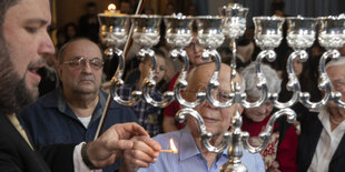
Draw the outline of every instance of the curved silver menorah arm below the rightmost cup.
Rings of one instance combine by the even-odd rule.
[[[312,102],[310,94],[308,92],[303,92],[300,94],[300,102],[308,109],[318,109],[323,105],[325,105],[329,99],[333,99],[337,102],[338,105],[342,105],[341,100],[337,99],[336,94],[332,92],[332,83],[329,81],[328,74],[326,72],[326,60],[332,57],[333,59],[338,59],[339,58],[339,52],[337,50],[327,50],[324,52],[324,54],[319,59],[318,63],[318,72],[319,72],[319,83],[318,83],[318,89],[321,91],[324,90],[324,97],[319,102]],[[333,93],[333,94],[332,94]]]

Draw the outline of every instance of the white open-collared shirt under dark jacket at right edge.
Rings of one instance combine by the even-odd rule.
[[[317,142],[308,172],[328,171],[329,162],[344,135],[345,121],[332,131],[329,115],[326,108],[323,108],[317,115],[324,129]]]

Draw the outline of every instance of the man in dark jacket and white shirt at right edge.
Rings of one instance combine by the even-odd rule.
[[[345,101],[345,57],[326,65],[334,91]],[[304,114],[297,151],[297,171],[345,169],[345,109],[328,102],[318,114]]]

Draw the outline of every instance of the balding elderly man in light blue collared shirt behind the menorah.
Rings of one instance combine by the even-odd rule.
[[[195,99],[197,91],[205,91],[213,72],[215,70],[214,63],[206,63],[197,67],[188,75],[188,88],[186,90],[186,98],[189,101]],[[219,73],[219,89],[215,92],[215,97],[219,101],[224,101],[224,95],[231,91],[230,89],[230,72],[231,69],[221,64]],[[240,82],[240,78],[236,80]],[[236,111],[241,112],[243,108],[239,104],[234,104],[226,109],[219,109],[211,105],[208,101],[199,104],[195,110],[201,115],[207,131],[213,134],[211,144],[217,146],[221,143],[223,133],[228,131],[231,127],[231,117]],[[160,153],[157,162],[149,164],[151,160],[147,156],[147,161],[141,161],[141,166],[148,166],[147,169],[139,169],[139,171],[219,171],[220,166],[228,161],[227,149],[220,154],[209,152],[204,148],[200,140],[200,131],[198,130],[198,123],[196,119],[188,115],[187,127],[183,130],[160,134],[156,138],[162,149],[170,149],[169,139],[172,138],[178,149],[178,153]],[[144,149],[146,148],[146,149]],[[145,150],[145,151],[139,151]],[[150,146],[147,146],[142,142],[136,141],[132,151],[125,151],[125,164],[122,165],[127,171],[135,171],[136,166],[132,163],[132,159],[136,156],[142,156],[146,153],[150,153]],[[247,151],[243,151],[243,163],[247,166],[248,171],[265,171],[263,159],[259,154],[250,154]]]

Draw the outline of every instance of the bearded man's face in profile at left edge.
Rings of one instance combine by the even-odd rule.
[[[40,75],[37,70],[43,67],[42,57],[55,52],[53,44],[47,32],[50,24],[48,0],[21,0],[11,7],[3,21],[3,41],[11,62],[11,82],[6,91],[14,92],[16,104],[21,107],[33,101],[38,95]],[[1,57],[3,58],[3,57]],[[8,60],[8,59],[7,59]],[[4,70],[3,68],[1,70]],[[27,100],[21,100],[27,99]],[[11,100],[9,100],[11,101]],[[21,101],[19,103],[19,101]]]

